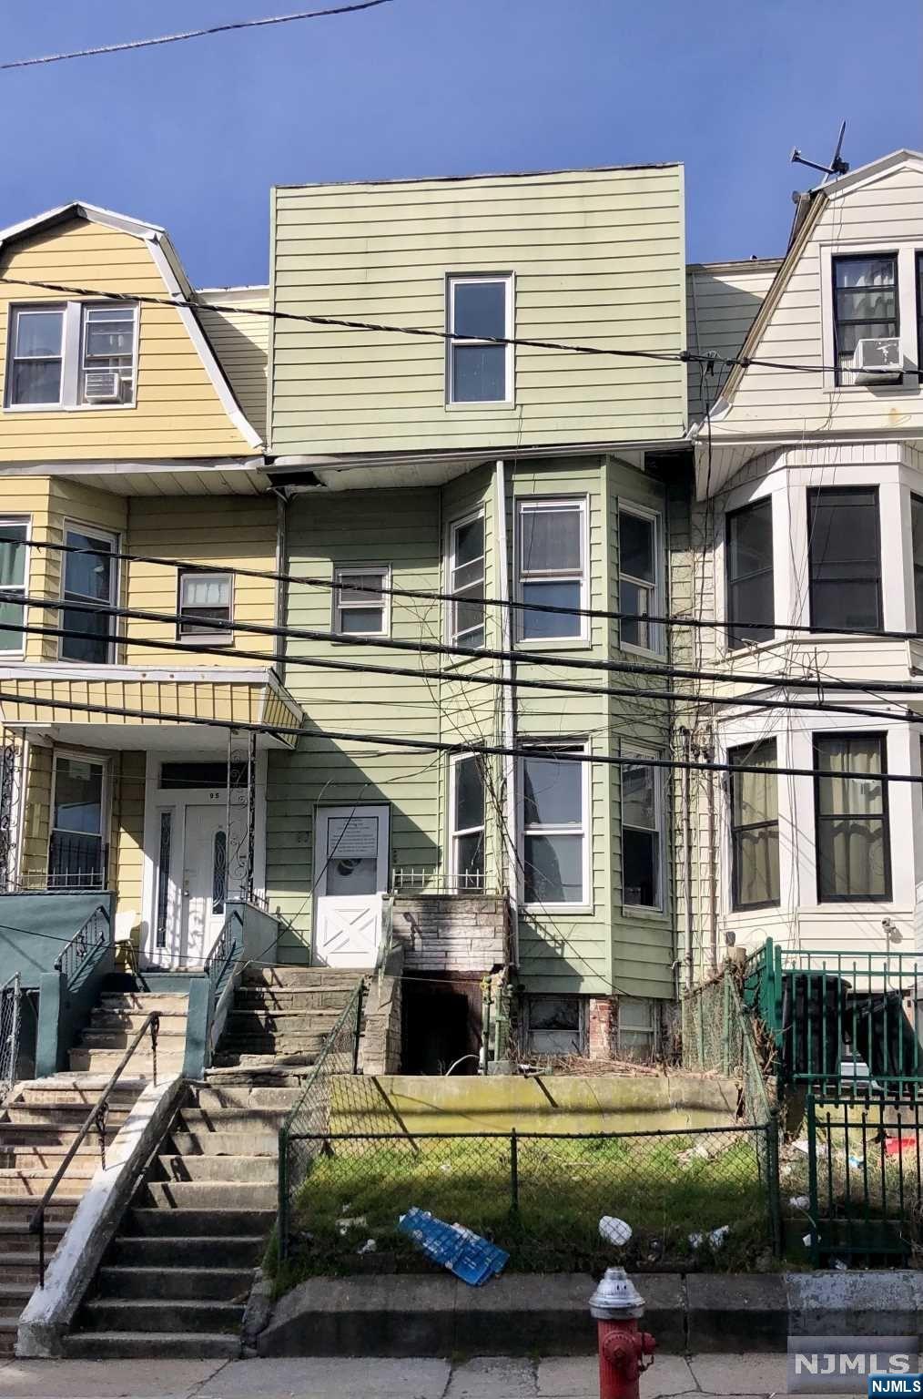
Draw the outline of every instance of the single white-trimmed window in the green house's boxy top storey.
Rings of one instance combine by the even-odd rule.
[[[446,400],[512,403],[513,347],[492,344],[513,334],[512,276],[452,276],[446,297]]]

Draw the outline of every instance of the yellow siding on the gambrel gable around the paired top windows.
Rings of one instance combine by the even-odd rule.
[[[0,255],[0,274],[103,292],[168,294],[143,239],[81,218],[11,243]],[[0,283],[0,358],[4,365],[10,304],[60,299],[50,291]],[[7,410],[0,414],[0,460],[4,462],[117,462],[252,453],[228,418],[172,306],[140,308],[134,407]]]

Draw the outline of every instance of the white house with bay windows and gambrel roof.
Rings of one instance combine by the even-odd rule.
[[[923,154],[801,196],[766,290],[768,270],[691,270],[699,347],[727,354],[736,308],[754,362],[691,395],[695,504],[673,609],[720,625],[678,635],[674,662],[727,677],[708,694],[804,708],[701,702],[678,722],[692,755],[815,775],[691,779],[677,886],[696,977],[730,942],[916,950],[923,936],[922,789],[880,778],[922,771],[923,642],[899,634],[923,632]]]

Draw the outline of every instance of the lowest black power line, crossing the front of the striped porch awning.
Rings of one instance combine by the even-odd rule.
[[[471,743],[463,739],[457,743],[449,743],[443,739],[397,737],[390,733],[351,733],[348,730],[317,729],[305,725],[271,725],[249,719],[213,719],[201,715],[171,713],[165,709],[140,709],[127,705],[98,705],[81,700],[49,700],[38,695],[21,695],[10,693],[8,690],[0,690],[0,704],[4,702],[28,705],[34,709],[67,709],[77,713],[95,713],[117,719],[140,719],[141,722],[151,723],[193,725],[206,729],[220,729],[222,732],[231,730],[232,733],[266,733],[274,739],[305,737],[323,739],[329,743],[364,743],[380,746],[383,748],[404,748],[413,753],[457,753],[470,755],[480,754],[482,757],[544,758],[552,762],[579,762],[590,767],[596,764],[600,767],[614,768],[688,768],[694,772],[750,772],[764,778],[766,774],[775,774],[776,776],[793,778],[829,778],[831,781],[854,782],[902,782],[912,786],[923,785],[923,776],[917,776],[913,772],[859,772],[853,768],[842,768],[833,772],[825,768],[766,768],[750,767],[744,762],[656,758],[649,757],[647,754],[636,757],[608,753],[586,753],[582,748],[575,747],[575,744],[580,741],[579,739],[566,737],[551,741],[537,737],[534,743],[523,744]],[[49,722],[55,723],[53,719]],[[24,723],[25,720],[20,719],[14,722],[14,726],[22,727]]]

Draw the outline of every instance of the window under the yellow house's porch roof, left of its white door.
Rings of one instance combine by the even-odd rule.
[[[48,852],[49,888],[105,888],[105,768],[57,754]]]

